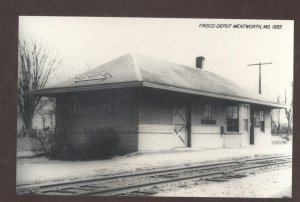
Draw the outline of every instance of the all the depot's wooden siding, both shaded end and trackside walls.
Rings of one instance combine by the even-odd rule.
[[[115,100],[117,114],[107,114],[107,98]],[[77,110],[72,111],[72,100]],[[163,150],[182,147],[174,134],[173,107],[175,104],[191,106],[191,146],[202,148],[236,147],[249,144],[249,133],[243,130],[243,104],[239,104],[239,133],[226,132],[226,106],[228,103],[203,97],[189,97],[152,89],[126,89],[57,96],[56,131],[60,141],[73,147],[83,147],[87,141],[86,129],[113,127],[121,141],[119,150],[124,153],[137,150]],[[202,124],[204,105],[212,104],[216,124]],[[252,106],[251,106],[252,107]],[[250,110],[250,107],[249,107]],[[255,145],[270,143],[270,109],[265,111],[265,132],[255,128]],[[250,115],[250,111],[249,111]],[[248,119],[250,127],[250,117]],[[250,131],[250,128],[249,130]]]

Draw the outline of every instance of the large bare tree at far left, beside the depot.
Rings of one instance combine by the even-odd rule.
[[[44,88],[50,74],[60,65],[56,57],[50,56],[50,51],[36,41],[27,43],[19,40],[19,80],[18,107],[25,127],[25,136],[29,136],[32,119],[41,109],[40,96],[32,96],[30,90]]]

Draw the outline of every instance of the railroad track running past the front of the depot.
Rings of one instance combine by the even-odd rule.
[[[152,195],[159,186],[189,180],[227,181],[247,176],[255,170],[292,163],[291,155],[269,156],[223,163],[203,164],[182,168],[137,172],[111,177],[46,184],[19,186],[17,194],[44,195]]]

